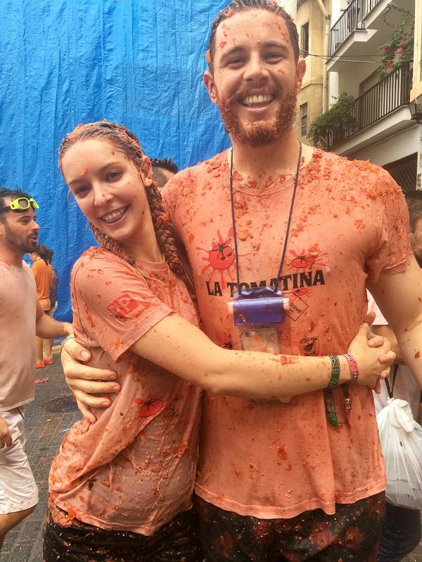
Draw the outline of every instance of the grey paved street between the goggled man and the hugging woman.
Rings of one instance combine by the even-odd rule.
[[[25,521],[6,535],[0,562],[42,561],[42,528],[51,461],[66,431],[80,418],[65,384],[57,353],[52,365],[37,370],[37,377],[49,380],[35,385],[35,400],[25,407],[25,427],[26,450],[39,488],[39,504]],[[404,562],[422,562],[422,544],[404,558]]]

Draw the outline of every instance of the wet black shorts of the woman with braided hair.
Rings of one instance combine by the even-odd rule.
[[[78,521],[63,527],[49,514],[44,562],[202,562],[193,510],[177,515],[150,537]]]

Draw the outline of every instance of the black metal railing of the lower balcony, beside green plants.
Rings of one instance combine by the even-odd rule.
[[[343,143],[398,107],[409,103],[411,80],[412,70],[407,63],[356,98],[352,110],[339,119],[337,126],[328,133],[328,148]]]

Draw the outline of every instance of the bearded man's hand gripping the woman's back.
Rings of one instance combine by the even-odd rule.
[[[72,338],[65,342],[61,351],[61,362],[66,382],[75,395],[82,415],[94,422],[96,417],[91,412],[91,407],[104,408],[111,405],[108,396],[94,395],[120,392],[120,384],[113,382],[117,379],[114,371],[84,365],[83,361],[89,359],[91,359],[91,353],[79,345],[75,339]]]

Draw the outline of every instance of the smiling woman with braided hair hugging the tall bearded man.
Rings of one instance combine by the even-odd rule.
[[[123,126],[78,126],[61,145],[60,167],[101,244],[72,271],[75,336],[91,353],[85,368],[96,379],[113,370],[121,391],[106,410],[108,397],[96,397],[53,461],[44,559],[130,562],[160,551],[160,559],[202,562],[191,511],[199,386],[295,396],[328,385],[331,359],[229,351],[198,329],[150,161]],[[350,351],[359,384],[374,386],[388,344],[369,347],[362,326]],[[350,381],[346,358],[338,362],[339,380]]]

